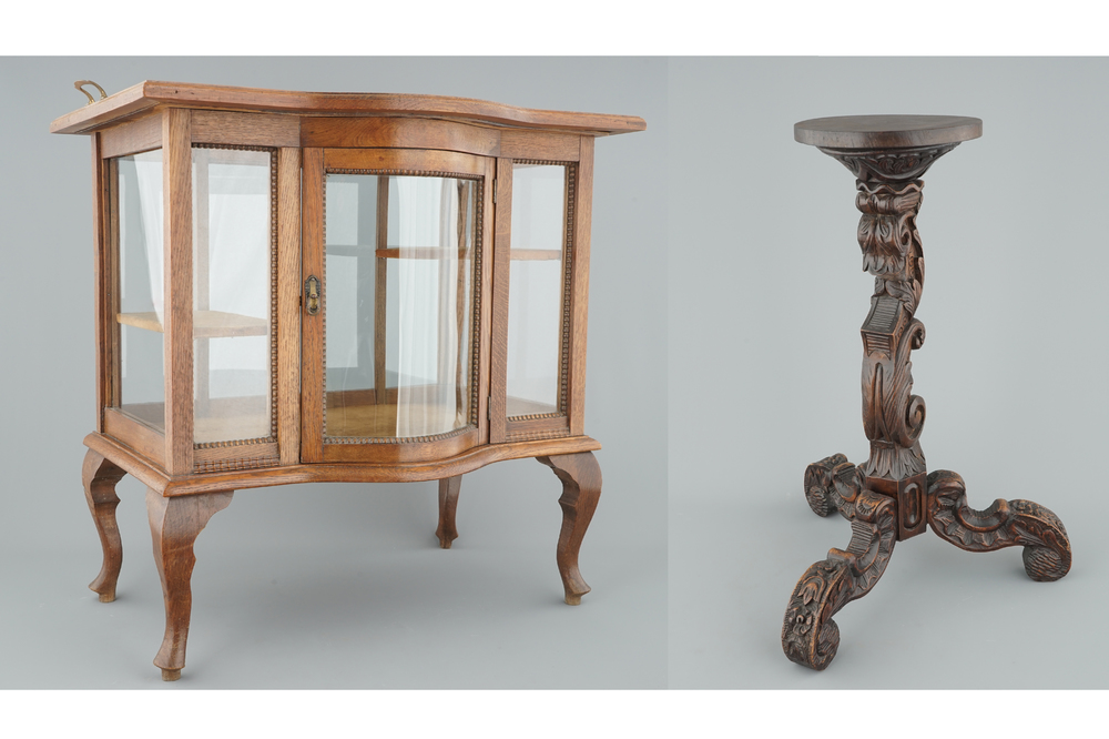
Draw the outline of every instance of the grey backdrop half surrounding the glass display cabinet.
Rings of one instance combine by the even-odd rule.
[[[561,603],[561,484],[531,459],[462,478],[446,551],[434,483],[241,490],[196,543],[180,687],[665,687],[665,61],[104,58],[0,60],[4,275],[22,283],[4,291],[0,324],[0,688],[170,687],[151,664],[162,595],[130,477],[119,598],[87,589],[100,568],[80,485],[95,417],[90,150],[47,132],[84,104],[78,79],[109,92],[152,79],[427,93],[648,121],[596,152],[586,433],[604,447],[604,486],[580,557],[593,591]]]

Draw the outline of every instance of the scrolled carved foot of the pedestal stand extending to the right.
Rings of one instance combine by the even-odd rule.
[[[1070,539],[1054,513],[1031,500],[994,500],[985,510],[967,505],[966,484],[946,469],[928,475],[928,524],[939,538],[967,551],[1022,546],[1025,573],[1038,583],[1070,571]]]

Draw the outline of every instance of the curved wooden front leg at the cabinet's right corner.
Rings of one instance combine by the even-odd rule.
[[[558,537],[557,560],[566,603],[577,606],[581,604],[581,596],[589,593],[589,586],[578,570],[578,550],[601,497],[601,467],[592,452],[537,459],[553,469],[562,480],[562,497],[558,500],[562,507],[562,530]]]

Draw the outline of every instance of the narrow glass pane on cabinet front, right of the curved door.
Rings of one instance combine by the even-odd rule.
[[[512,165],[509,253],[508,416],[560,413],[567,166]]]

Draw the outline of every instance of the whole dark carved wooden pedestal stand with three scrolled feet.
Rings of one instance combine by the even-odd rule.
[[[924,401],[912,394],[909,353],[924,344],[914,314],[924,287],[924,254],[916,230],[919,178],[963,141],[981,135],[981,121],[950,115],[858,115],[802,121],[801,143],[817,146],[857,178],[855,205],[863,267],[875,276],[863,323],[863,428],[871,456],[855,466],[834,454],[805,470],[805,497],[818,516],[838,512],[851,522],[846,550],[831,549],[801,577],[782,627],[786,656],[822,670],[835,657],[840,628],[832,620],[866,595],[885,571],[894,543],[930,525],[968,551],[1024,547],[1034,580],[1057,580],[1070,569],[1062,522],[1029,500],[967,505],[963,478],[927,472],[919,437]]]

